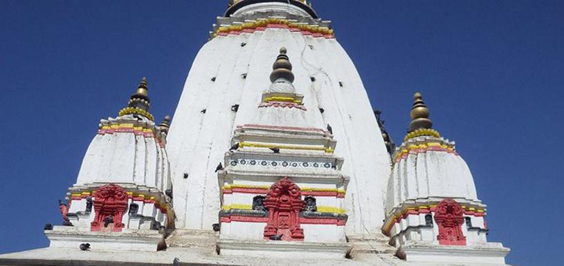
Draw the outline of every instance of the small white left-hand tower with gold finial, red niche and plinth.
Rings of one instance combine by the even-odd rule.
[[[153,122],[147,91],[143,78],[118,117],[100,120],[77,181],[60,203],[64,226],[45,231],[51,247],[154,251],[174,229],[169,118]]]

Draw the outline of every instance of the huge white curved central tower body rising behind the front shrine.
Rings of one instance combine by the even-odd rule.
[[[330,22],[302,1],[236,2],[217,19],[212,39],[194,59],[167,137],[176,226],[210,230],[217,222],[215,167],[233,131],[255,117],[272,59],[284,46],[293,61],[293,85],[309,110],[306,119],[321,129],[331,125],[339,142],[335,154],[347,162],[347,234],[379,231],[390,155],[361,78]]]

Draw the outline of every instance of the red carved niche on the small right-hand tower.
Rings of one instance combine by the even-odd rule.
[[[464,210],[458,202],[451,199],[442,200],[435,208],[435,221],[439,225],[440,245],[466,245],[466,236],[462,234]]]

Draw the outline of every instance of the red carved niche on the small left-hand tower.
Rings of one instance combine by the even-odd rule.
[[[94,220],[91,231],[121,231],[123,213],[127,209],[127,191],[117,184],[106,184],[94,193]]]

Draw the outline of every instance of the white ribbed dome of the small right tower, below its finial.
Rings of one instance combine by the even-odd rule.
[[[472,173],[443,138],[421,136],[404,142],[395,153],[386,211],[406,200],[461,198],[479,202]]]

